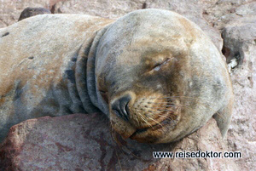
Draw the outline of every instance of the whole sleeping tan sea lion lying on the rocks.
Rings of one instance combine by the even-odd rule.
[[[224,135],[233,91],[218,49],[180,14],[119,20],[37,15],[0,31],[0,132],[32,117],[102,111],[124,139],[180,140],[212,116]]]

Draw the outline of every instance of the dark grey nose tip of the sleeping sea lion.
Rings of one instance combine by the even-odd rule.
[[[111,105],[112,111],[120,118],[125,121],[129,120],[129,101],[131,100],[130,95],[125,95],[124,97],[115,100]]]

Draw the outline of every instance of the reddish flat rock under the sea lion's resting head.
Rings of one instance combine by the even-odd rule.
[[[165,145],[116,143],[101,113],[41,117],[15,125],[0,147],[5,170],[239,170],[233,159],[154,159],[153,151],[227,151],[214,119]],[[119,145],[118,145],[119,144]]]

